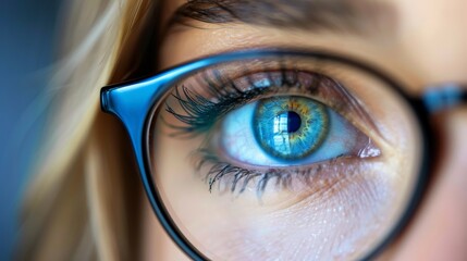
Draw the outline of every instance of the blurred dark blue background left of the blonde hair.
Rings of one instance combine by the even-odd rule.
[[[17,211],[47,117],[45,87],[63,0],[0,2],[0,260],[11,260]]]

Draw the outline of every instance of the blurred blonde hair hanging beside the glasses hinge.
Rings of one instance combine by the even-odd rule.
[[[126,260],[137,253],[140,185],[124,129],[99,89],[128,77],[155,1],[76,0],[50,80],[53,116],[28,187],[16,258]],[[128,215],[127,213],[132,213]]]

